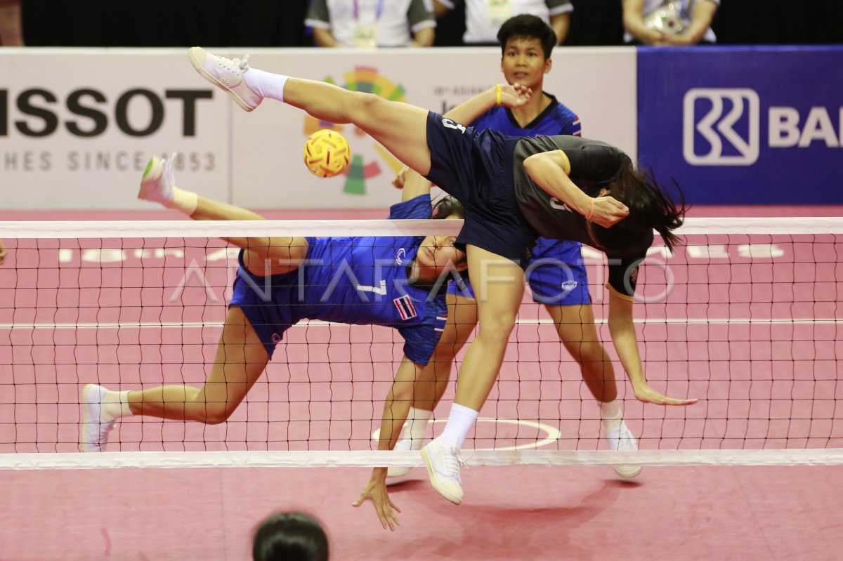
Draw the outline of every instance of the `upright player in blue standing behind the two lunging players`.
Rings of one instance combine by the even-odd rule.
[[[544,77],[550,72],[550,53],[556,34],[550,25],[530,14],[507,19],[497,33],[501,44],[501,69],[507,83],[520,83],[534,95],[527,104],[510,109],[495,106],[471,126],[476,131],[493,129],[510,136],[581,136],[576,114],[544,91]],[[415,174],[415,172],[411,172]],[[401,176],[398,181],[400,183]],[[397,184],[396,184],[397,186]],[[615,370],[594,326],[594,312],[588,295],[588,275],[583,264],[582,244],[539,238],[529,260],[527,281],[535,302],[545,305],[556,325],[561,342],[580,366],[583,380],[600,403],[604,436],[613,450],[636,450],[635,436],[623,421],[615,384]],[[470,281],[448,285],[448,323],[436,355],[425,368],[412,393],[400,398],[414,400],[404,438],[395,450],[418,450],[427,431],[432,411],[442,398],[450,377],[454,356],[465,345],[477,323],[477,307]],[[410,468],[389,468],[389,477],[400,477]],[[636,466],[616,466],[622,477],[641,472]]]

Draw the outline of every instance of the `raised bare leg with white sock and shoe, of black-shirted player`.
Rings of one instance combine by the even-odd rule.
[[[419,174],[430,171],[427,110],[330,83],[263,72],[251,68],[247,58],[228,59],[201,47],[191,48],[188,57],[201,77],[227,91],[244,110],[253,110],[270,98],[305,110],[319,120],[353,123]]]

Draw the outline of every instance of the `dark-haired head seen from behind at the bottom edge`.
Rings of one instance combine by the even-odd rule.
[[[314,517],[282,512],[261,522],[255,532],[255,561],[327,561],[328,537]]]

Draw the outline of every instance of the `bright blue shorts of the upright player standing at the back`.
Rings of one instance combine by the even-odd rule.
[[[582,244],[539,238],[527,267],[527,282],[534,302],[553,306],[590,304],[588,273],[583,263]],[[452,282],[448,293],[474,298],[470,280]]]

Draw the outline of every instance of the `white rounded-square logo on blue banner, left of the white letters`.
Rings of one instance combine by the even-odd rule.
[[[685,93],[684,105],[682,152],[688,163],[698,166],[749,166],[758,160],[760,99],[753,89],[692,88]],[[705,106],[708,107],[707,113],[701,111],[697,115],[697,109]],[[745,131],[738,132],[735,125],[742,121],[744,112],[749,123]],[[699,133],[708,144],[707,152],[697,152],[695,133]],[[728,142],[731,149],[725,147],[724,142]]]

